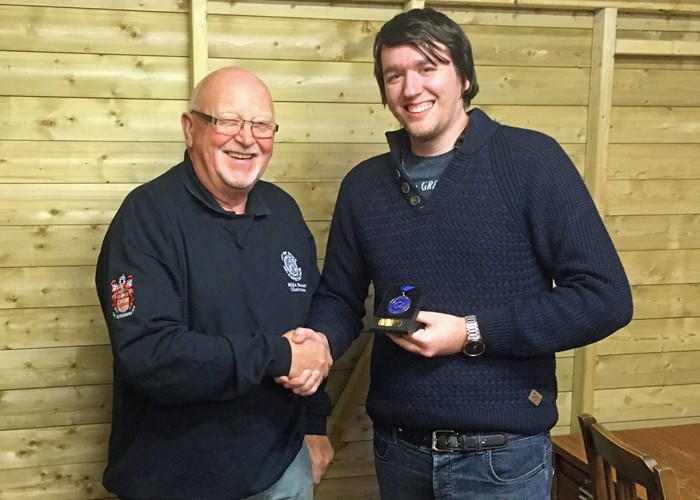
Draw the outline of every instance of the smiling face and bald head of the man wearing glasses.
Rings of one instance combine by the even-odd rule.
[[[223,68],[208,75],[197,89],[193,109],[217,118],[275,120],[265,84],[241,68]],[[224,134],[191,113],[182,115],[185,142],[197,177],[227,210],[243,203],[262,177],[272,156],[274,139],[257,139],[249,123],[235,135]]]

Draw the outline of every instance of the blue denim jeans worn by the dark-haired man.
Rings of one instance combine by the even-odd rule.
[[[375,426],[374,466],[382,500],[550,500],[549,432],[503,448],[434,452]]]

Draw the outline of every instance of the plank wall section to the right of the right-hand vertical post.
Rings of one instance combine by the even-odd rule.
[[[617,25],[618,45],[700,47],[698,16]],[[606,224],[635,312],[598,345],[594,414],[610,428],[700,422],[700,58],[618,55],[613,80]]]

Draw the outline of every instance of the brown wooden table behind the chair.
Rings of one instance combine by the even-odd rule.
[[[700,500],[700,424],[614,431],[621,440],[676,474],[683,500]],[[593,498],[580,434],[552,437],[554,500]]]

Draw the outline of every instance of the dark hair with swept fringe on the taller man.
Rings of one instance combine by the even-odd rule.
[[[448,64],[450,61],[444,56],[443,47],[438,44],[447,47],[462,85],[469,80],[469,88],[462,93],[464,106],[469,106],[471,100],[479,92],[472,46],[467,35],[456,22],[430,7],[412,9],[397,15],[382,26],[374,39],[374,77],[377,79],[379,91],[382,93],[382,104],[386,105],[382,49],[410,45],[431,62]]]

